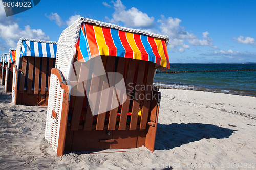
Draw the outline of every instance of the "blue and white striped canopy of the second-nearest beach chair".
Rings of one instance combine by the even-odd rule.
[[[34,56],[34,57],[56,58],[56,55],[57,55],[57,44],[25,41],[25,40],[23,40],[22,42],[22,50],[21,50],[20,57]]]

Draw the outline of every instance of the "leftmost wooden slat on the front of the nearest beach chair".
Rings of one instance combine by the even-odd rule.
[[[88,73],[89,73],[89,69],[86,66],[84,66],[83,63],[81,63],[79,77],[78,77],[78,82],[81,82],[81,83],[77,83],[76,93],[84,94],[84,91],[85,91],[84,82],[82,82],[81,80],[87,80]],[[76,96],[75,103],[74,103],[73,116],[72,116],[72,120],[71,120],[71,130],[72,131],[78,130],[78,128],[79,128],[83,100],[84,100],[84,96]]]

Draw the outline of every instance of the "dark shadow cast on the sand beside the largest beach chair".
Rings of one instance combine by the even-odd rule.
[[[199,141],[201,139],[223,139],[233,133],[232,129],[221,128],[211,124],[157,124],[155,150],[169,150],[182,144]]]

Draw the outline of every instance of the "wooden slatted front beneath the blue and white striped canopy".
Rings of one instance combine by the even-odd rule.
[[[55,67],[55,58],[22,57],[18,77],[19,93],[46,94],[50,85],[51,69]]]

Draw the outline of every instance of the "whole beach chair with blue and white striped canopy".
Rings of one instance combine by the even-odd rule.
[[[55,67],[57,42],[20,38],[13,76],[12,103],[47,106],[50,72]]]

